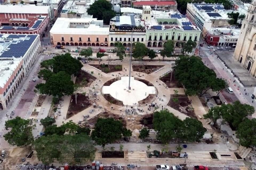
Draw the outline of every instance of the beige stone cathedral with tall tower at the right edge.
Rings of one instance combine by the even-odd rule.
[[[234,58],[256,77],[256,0],[251,3],[243,20]]]

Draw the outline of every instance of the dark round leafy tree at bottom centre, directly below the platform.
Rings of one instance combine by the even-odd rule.
[[[126,133],[129,132],[123,127],[121,121],[113,118],[98,118],[91,137],[98,145],[105,147],[107,143],[113,143],[121,139],[122,135],[129,137]]]

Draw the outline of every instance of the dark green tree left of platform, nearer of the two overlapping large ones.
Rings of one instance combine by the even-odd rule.
[[[35,88],[46,95],[53,95],[55,97],[62,97],[64,95],[72,95],[74,92],[74,83],[70,80],[70,75],[64,71],[51,75],[46,83],[40,83]]]

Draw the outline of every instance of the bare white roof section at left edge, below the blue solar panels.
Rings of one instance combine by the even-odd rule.
[[[0,61],[0,87],[3,88],[6,82],[10,79],[11,75],[18,67],[19,63],[21,63],[21,58],[13,58],[9,60],[1,60]]]

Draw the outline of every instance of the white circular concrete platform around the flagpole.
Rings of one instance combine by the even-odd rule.
[[[138,101],[145,99],[149,94],[156,94],[154,86],[147,86],[145,83],[135,80],[134,77],[131,77],[130,87],[129,86],[129,77],[121,77],[121,80],[118,80],[110,86],[103,86],[102,93],[110,94],[117,100],[123,102],[124,105],[138,105]]]

